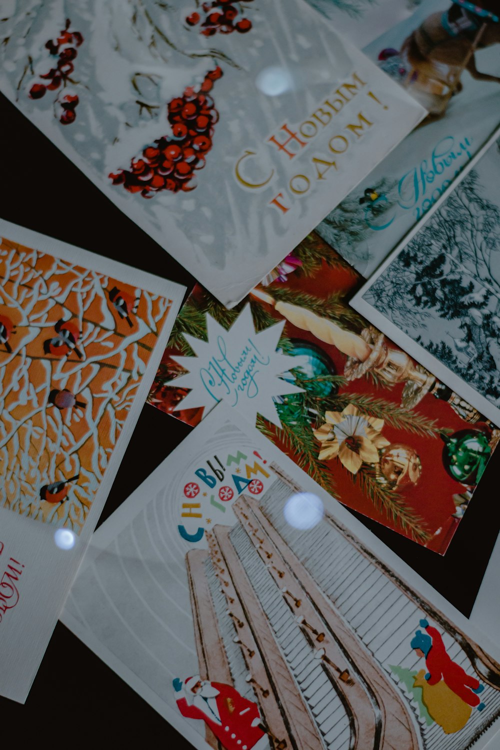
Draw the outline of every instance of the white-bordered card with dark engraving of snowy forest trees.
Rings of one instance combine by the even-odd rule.
[[[500,131],[352,305],[500,422]]]

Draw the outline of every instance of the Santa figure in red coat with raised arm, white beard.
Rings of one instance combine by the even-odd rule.
[[[262,729],[259,707],[238,693],[232,685],[209,682],[197,674],[184,682],[173,681],[178,709],[186,718],[200,718],[208,724],[226,750],[269,750],[269,738]]]

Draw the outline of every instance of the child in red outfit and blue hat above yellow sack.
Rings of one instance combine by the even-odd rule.
[[[484,685],[481,685],[475,677],[469,676],[460,664],[451,660],[441,634],[429,625],[427,619],[421,619],[420,624],[422,628],[425,628],[427,635],[420,630],[416,631],[411,645],[418,656],[425,658],[428,670],[425,675],[427,682],[430,685],[437,685],[443,680],[464,703],[469,706],[478,706],[478,711],[482,711],[485,706],[481,703],[478,693],[484,690]]]

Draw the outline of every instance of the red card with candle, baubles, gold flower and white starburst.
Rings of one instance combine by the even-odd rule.
[[[496,425],[349,308],[359,277],[319,236],[265,281],[232,311],[195,287],[148,401],[190,425],[225,401],[340,502],[445,553]]]

